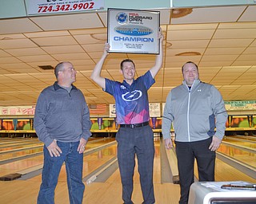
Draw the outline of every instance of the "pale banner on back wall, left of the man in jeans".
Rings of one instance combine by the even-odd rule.
[[[0,106],[0,115],[34,115],[34,106]]]

